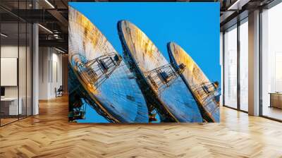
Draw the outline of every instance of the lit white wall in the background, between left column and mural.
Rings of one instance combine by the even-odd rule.
[[[39,99],[56,97],[62,85],[62,55],[51,47],[39,47]]]

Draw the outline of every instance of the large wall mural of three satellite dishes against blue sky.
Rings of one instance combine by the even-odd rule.
[[[69,5],[69,121],[219,122],[218,3]]]

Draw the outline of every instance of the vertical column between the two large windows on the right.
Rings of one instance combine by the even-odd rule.
[[[249,114],[259,116],[259,11],[249,13]]]

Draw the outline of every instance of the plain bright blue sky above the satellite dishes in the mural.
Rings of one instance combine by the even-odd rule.
[[[118,20],[137,25],[168,59],[167,42],[176,42],[202,68],[209,80],[221,80],[219,3],[70,2],[101,30],[121,54]]]

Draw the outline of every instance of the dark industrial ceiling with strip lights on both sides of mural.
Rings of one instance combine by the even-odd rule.
[[[71,1],[71,0],[70,0]],[[73,0],[82,1],[82,0]],[[84,0],[85,1],[85,0]],[[91,0],[86,0],[91,1]],[[106,1],[106,0],[102,0]],[[126,0],[109,0],[126,1]],[[138,0],[137,0],[138,1]],[[140,0],[141,1],[141,0]],[[144,1],[144,0],[142,0]],[[152,1],[152,0],[145,0]],[[155,0],[158,1],[158,0]],[[163,0],[164,1],[164,0]],[[173,0],[165,0],[173,1]],[[176,0],[185,1],[185,0]],[[190,0],[195,2],[197,0]],[[204,2],[218,1],[221,4],[220,25],[224,30],[229,25],[237,23],[238,15],[247,16],[248,11],[269,4],[273,0],[202,0]],[[16,24],[20,22],[39,23],[39,46],[52,46],[68,49],[68,0],[1,0],[0,18],[3,31],[16,37]],[[199,2],[199,0],[197,1]],[[36,9],[35,9],[36,8]],[[243,16],[241,16],[243,18]],[[16,27],[16,28],[15,28]],[[21,36],[21,35],[20,35]],[[16,37],[17,38],[17,37]]]

